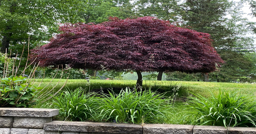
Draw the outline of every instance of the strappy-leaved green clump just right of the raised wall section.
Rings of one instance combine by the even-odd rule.
[[[94,93],[85,93],[78,88],[74,91],[63,91],[58,96],[53,96],[53,106],[59,109],[61,120],[86,121],[95,114],[98,108],[97,97]]]

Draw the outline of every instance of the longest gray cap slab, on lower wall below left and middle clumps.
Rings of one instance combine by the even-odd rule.
[[[44,130],[142,134],[142,126],[138,124],[83,121],[52,121],[44,125]]]

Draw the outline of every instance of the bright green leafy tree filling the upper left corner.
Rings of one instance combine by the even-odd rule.
[[[38,45],[57,32],[59,23],[82,21],[78,13],[85,11],[84,2],[86,0],[1,0],[1,52],[8,51],[9,46],[23,47],[22,42],[28,37],[31,44],[36,41],[34,45]]]

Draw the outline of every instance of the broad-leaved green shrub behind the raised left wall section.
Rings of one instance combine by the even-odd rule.
[[[26,77],[0,79],[0,107],[30,107],[36,104],[36,93],[40,89],[30,84]]]

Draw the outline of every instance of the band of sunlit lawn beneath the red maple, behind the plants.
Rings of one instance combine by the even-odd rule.
[[[39,84],[40,79],[36,84]],[[40,87],[45,87],[51,81],[51,79],[44,79]],[[54,87],[58,83],[59,79],[54,79],[50,86]],[[60,83],[56,86],[54,91],[58,91],[60,87],[66,82],[65,79],[61,79]],[[84,89],[100,89],[102,88],[133,88],[136,84],[136,80],[90,80],[90,84],[83,79],[69,79],[64,89],[74,90],[82,87]],[[202,96],[210,96],[210,92],[218,94],[219,89],[224,91],[241,91],[242,94],[256,94],[256,84],[249,83],[221,83],[221,82],[195,82],[195,81],[143,81],[143,88],[162,89],[163,91],[171,91],[175,85],[182,86],[180,90],[186,90],[194,94],[200,94]],[[185,91],[181,91],[181,95]]]

